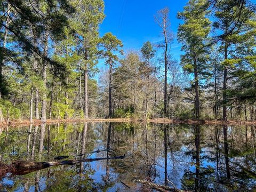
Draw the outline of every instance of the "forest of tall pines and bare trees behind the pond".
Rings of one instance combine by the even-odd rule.
[[[148,18],[162,41],[129,51],[111,32],[99,35],[104,9],[103,0],[1,1],[1,122],[256,120],[255,2],[189,0],[178,13],[165,7]],[[177,34],[170,14],[180,20]]]

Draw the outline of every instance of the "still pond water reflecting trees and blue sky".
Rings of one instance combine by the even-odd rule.
[[[256,190],[256,127],[95,122],[0,128],[0,191]],[[103,158],[8,173],[17,160]],[[64,158],[64,157],[63,157]]]

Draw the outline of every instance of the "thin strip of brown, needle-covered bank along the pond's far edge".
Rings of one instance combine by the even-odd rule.
[[[47,119],[46,124],[57,124],[57,123],[83,123],[83,122],[132,122],[132,123],[159,123],[159,124],[196,124],[196,125],[255,125],[256,121],[223,121],[223,120],[211,120],[211,119],[168,119],[168,118],[154,118],[154,119],[140,119],[140,118],[91,118],[91,119]],[[15,120],[0,123],[0,126],[28,126],[41,125],[43,122],[40,119],[34,119],[33,123],[29,120]]]

